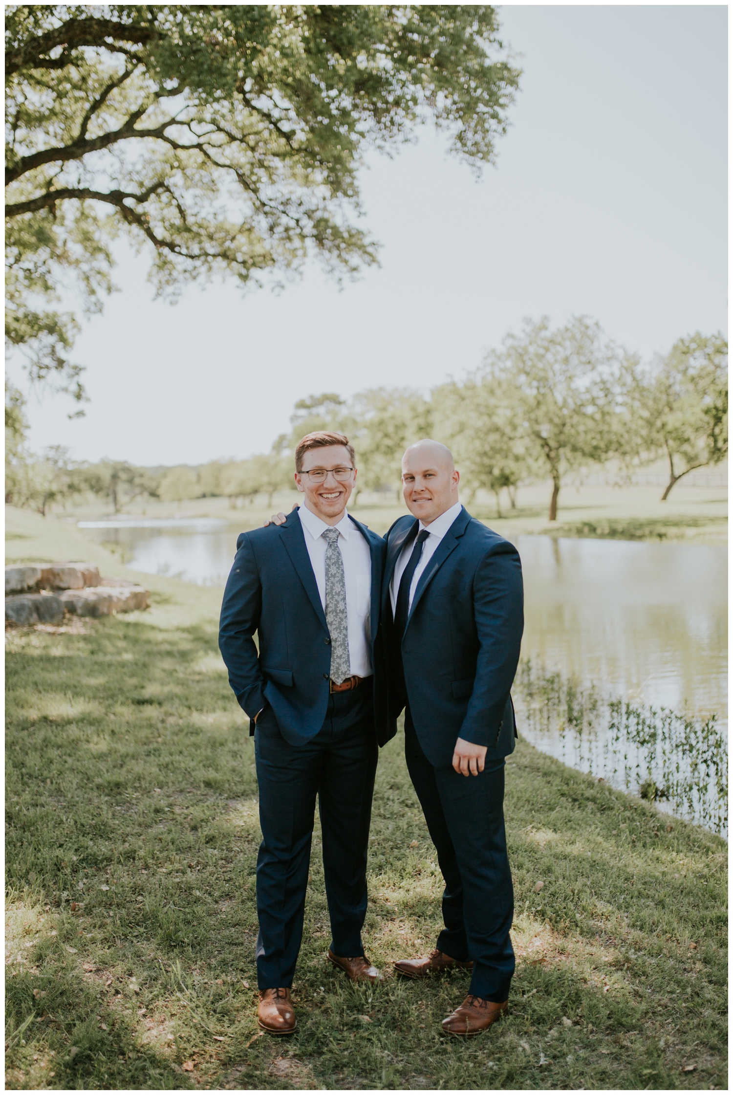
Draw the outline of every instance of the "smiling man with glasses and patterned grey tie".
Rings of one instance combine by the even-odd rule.
[[[240,535],[221,609],[219,646],[255,736],[258,1023],[271,1034],[296,1025],[290,989],[316,795],[328,958],[352,981],[382,978],[361,929],[377,744],[396,723],[379,627],[386,544],[347,512],[356,479],[347,437],[306,435],[295,449],[303,506],[280,526]]]

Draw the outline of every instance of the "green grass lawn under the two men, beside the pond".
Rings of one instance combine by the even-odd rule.
[[[440,924],[399,735],[377,771],[365,925],[387,980],[356,988],[325,961],[316,830],[299,1029],[260,1036],[254,750],[217,649],[220,593],[147,580],[148,612],[8,636],[8,1087],[725,1086],[725,843],[526,742],[507,779],[508,1017],[444,1037],[466,975],[389,973]]]

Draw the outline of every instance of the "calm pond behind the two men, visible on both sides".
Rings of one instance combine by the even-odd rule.
[[[133,569],[218,586],[226,580],[240,531],[208,518],[80,526],[86,535],[121,548]],[[666,707],[698,721],[717,715],[724,728],[724,546],[545,535],[515,542],[525,584],[525,662],[635,710]],[[531,717],[524,700],[520,694],[520,731],[534,745],[623,784],[607,757],[604,762],[596,750],[593,761],[578,742],[569,747],[565,723]],[[603,737],[604,730],[594,733]]]

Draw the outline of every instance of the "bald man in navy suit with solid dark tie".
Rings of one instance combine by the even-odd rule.
[[[523,593],[516,549],[464,509],[458,481],[444,445],[405,453],[412,516],[385,538],[382,619],[391,715],[405,711],[407,766],[445,881],[435,949],[395,968],[408,978],[470,970],[468,995],[443,1022],[465,1037],[502,1015],[514,972],[503,798]]]

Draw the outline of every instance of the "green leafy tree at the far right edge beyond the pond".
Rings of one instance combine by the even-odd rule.
[[[728,456],[728,342],[679,338],[652,370],[633,369],[630,387],[638,451],[662,450],[670,464],[664,502],[683,475]]]

